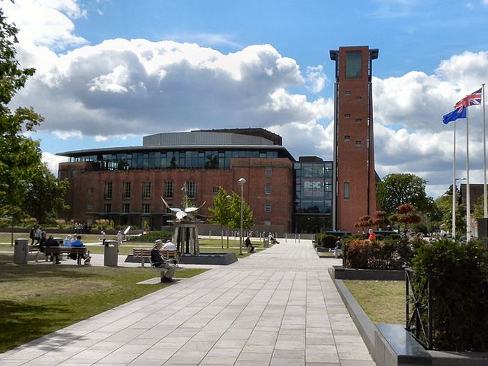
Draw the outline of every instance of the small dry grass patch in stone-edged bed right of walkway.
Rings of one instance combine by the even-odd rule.
[[[404,281],[344,280],[373,323],[405,323]]]

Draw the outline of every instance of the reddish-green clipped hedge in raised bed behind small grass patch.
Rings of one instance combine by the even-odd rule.
[[[413,251],[406,239],[386,238],[369,242],[358,238],[343,245],[346,268],[404,269],[411,266]]]

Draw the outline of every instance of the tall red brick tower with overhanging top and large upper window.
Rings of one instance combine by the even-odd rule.
[[[354,223],[376,211],[372,61],[378,49],[340,47],[335,61],[333,228],[355,233]]]

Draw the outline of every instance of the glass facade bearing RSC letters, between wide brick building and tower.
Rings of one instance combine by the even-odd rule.
[[[295,229],[299,233],[319,233],[332,227],[332,162],[296,162]]]

